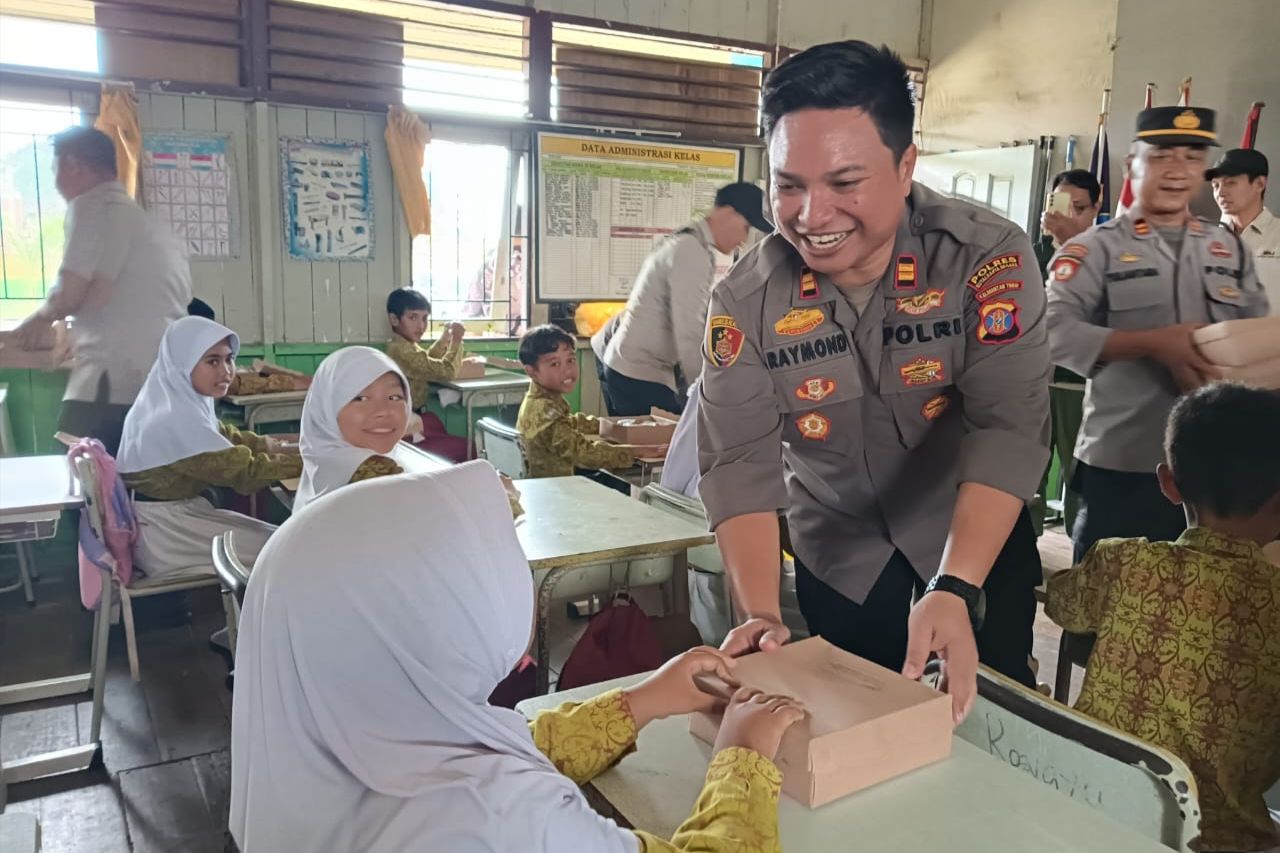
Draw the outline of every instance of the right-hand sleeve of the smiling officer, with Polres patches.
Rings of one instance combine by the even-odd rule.
[[[1048,324],[1027,234],[1010,229],[964,288],[960,482],[1029,501],[1048,464]]]

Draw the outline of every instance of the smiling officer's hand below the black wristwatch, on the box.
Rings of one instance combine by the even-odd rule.
[[[951,694],[951,719],[960,725],[978,694],[978,643],[969,610],[959,596],[928,594],[911,608],[902,675],[913,680],[924,675],[929,652],[942,660],[942,686]]]

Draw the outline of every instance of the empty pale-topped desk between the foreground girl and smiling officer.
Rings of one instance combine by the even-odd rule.
[[[676,612],[689,612],[687,551],[716,540],[707,528],[632,501],[585,476],[516,480],[516,488],[525,507],[525,515],[516,523],[516,535],[538,589],[539,693],[547,692],[550,674],[547,628],[552,598],[561,579],[575,569],[589,567],[580,580],[591,592],[607,592],[612,581],[621,584],[626,579],[622,573],[611,578],[608,564],[671,557],[669,601]],[[632,573],[630,583],[639,587],[660,579],[637,579]]]

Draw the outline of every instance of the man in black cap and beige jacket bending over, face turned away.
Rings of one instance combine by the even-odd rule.
[[[733,252],[751,228],[773,231],[764,218],[764,192],[754,183],[731,183],[717,191],[707,216],[649,254],[626,309],[591,338],[611,415],[648,415],[652,406],[684,411],[689,386],[701,371],[713,250]]]

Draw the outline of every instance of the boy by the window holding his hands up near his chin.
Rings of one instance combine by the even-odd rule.
[[[440,333],[440,339],[424,350],[419,341],[426,334],[430,319],[431,304],[425,296],[412,287],[392,291],[387,296],[387,321],[392,325],[387,355],[408,379],[410,405],[422,415],[424,438],[417,446],[454,462],[465,462],[471,457],[470,444],[465,438],[451,435],[444,421],[426,411],[426,392],[430,383],[448,382],[457,375],[462,365],[462,336],[466,329],[461,323],[449,323]]]

